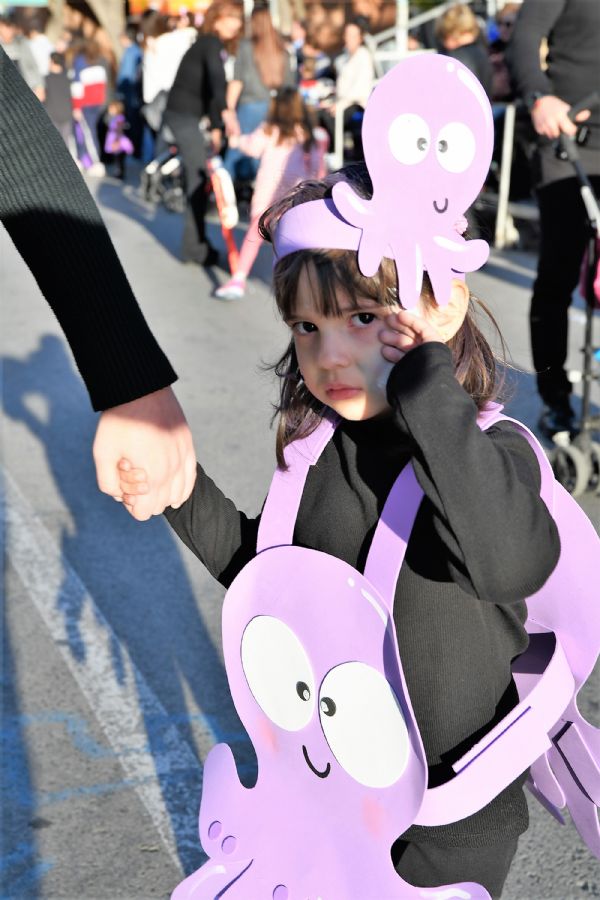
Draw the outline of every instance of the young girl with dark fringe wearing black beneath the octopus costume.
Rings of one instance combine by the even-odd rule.
[[[516,704],[511,661],[527,645],[523,601],[552,572],[559,540],[528,443],[509,423],[486,432],[477,425],[499,388],[464,281],[453,280],[442,306],[425,277],[409,312],[392,260],[365,277],[355,250],[313,248],[309,228],[294,243],[287,226],[283,246],[289,211],[330,198],[340,177],[370,196],[360,164],[301,184],[262,219],[263,237],[275,242],[275,298],[291,338],[275,368],[277,460],[284,468],[285,447],[328,411],[340,417],[309,471],[294,544],[359,571],[391,486],[412,462],[425,499],[398,577],[394,620],[434,787]],[[144,473],[125,462],[121,471],[132,507],[144,493]],[[255,555],[260,517],[238,512],[201,466],[190,500],[166,515],[227,587]],[[350,620],[344,624],[351,630]],[[525,773],[459,822],[413,825],[398,835],[397,872],[421,887],[471,880],[499,897],[528,824],[524,781]]]

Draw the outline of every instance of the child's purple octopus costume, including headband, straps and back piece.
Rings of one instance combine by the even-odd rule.
[[[402,95],[405,84],[413,85],[414,101]],[[438,97],[437,106],[423,101],[428,87]],[[435,152],[438,167],[456,180],[450,186],[447,180],[434,183],[430,159],[431,177],[413,180],[431,209],[421,215],[416,206],[409,208],[410,224],[395,226],[393,216],[404,215],[402,191],[395,199],[394,184],[388,182],[393,212],[382,212],[385,202],[375,202],[377,181],[367,157],[373,202],[338,183],[331,201],[302,204],[283,216],[276,254],[347,247],[358,251],[365,274],[373,266],[376,270],[383,255],[390,256],[403,305],[416,302],[413,288],[418,284],[420,291],[424,267],[440,302],[447,301],[455,267],[470,270],[487,254],[469,246],[483,242],[457,239],[454,224],[474,199],[473,171],[477,188],[487,171],[489,104],[468,70],[428,56],[399,64],[382,80],[367,107],[365,131],[375,130],[372,108],[379,110],[379,143],[372,146],[378,147],[380,160],[390,162],[388,145],[400,169],[418,167]],[[412,129],[416,119],[418,128]],[[398,147],[407,134],[404,153]],[[462,144],[457,138],[452,145],[453,134]],[[368,146],[367,141],[366,154]],[[424,155],[415,161],[417,151]],[[439,157],[447,152],[467,159],[466,168],[457,168],[458,163],[454,172],[444,168]],[[461,178],[468,185],[464,192]],[[428,184],[433,194],[423,199]],[[453,204],[453,197],[460,200]],[[411,299],[405,302],[407,295]],[[501,418],[500,408],[490,405],[479,426],[485,429]],[[577,691],[600,646],[600,609],[593,596],[598,579],[592,572],[600,542],[590,523],[554,481],[535,438],[515,423],[538,457],[542,499],[561,533],[561,558],[528,601],[530,646],[513,670],[519,704],[454,764],[454,778],[428,789],[393,619],[396,580],[423,496],[412,466],[402,470],[390,492],[364,573],[292,543],[307,473],[335,424],[325,418],[311,435],[286,448],[288,469],[274,475],[257,556],[227,592],[225,664],[233,700],[256,750],[258,778],[254,788],[243,787],[230,749],[221,744],[211,750],[200,809],[200,838],[209,861],[179,885],[174,900],[486,898],[487,891],[472,883],[408,885],[393,868],[391,844],[413,823],[444,824],[476,812],[532,764],[536,796],[557,815],[557,807],[567,805],[600,855],[600,741],[576,706]],[[348,618],[352,628],[340,627]]]

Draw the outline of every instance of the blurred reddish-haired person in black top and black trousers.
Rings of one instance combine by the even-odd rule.
[[[213,3],[202,24],[202,33],[181,60],[169,92],[164,121],[179,148],[185,172],[187,207],[183,227],[183,262],[211,266],[218,253],[206,237],[207,145],[200,122],[209,120],[210,150],[221,149],[225,110],[225,43],[242,28],[241,7],[231,0]]]

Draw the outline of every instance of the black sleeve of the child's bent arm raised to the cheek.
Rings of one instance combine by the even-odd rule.
[[[441,343],[422,344],[397,363],[388,400],[410,437],[453,579],[493,603],[534,594],[558,561],[560,540],[525,438],[510,423],[481,431],[477,407]]]

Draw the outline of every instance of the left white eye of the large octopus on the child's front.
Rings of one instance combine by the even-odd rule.
[[[254,699],[275,725],[299,731],[315,708],[315,680],[304,647],[273,616],[256,616],[242,636],[242,666]]]

